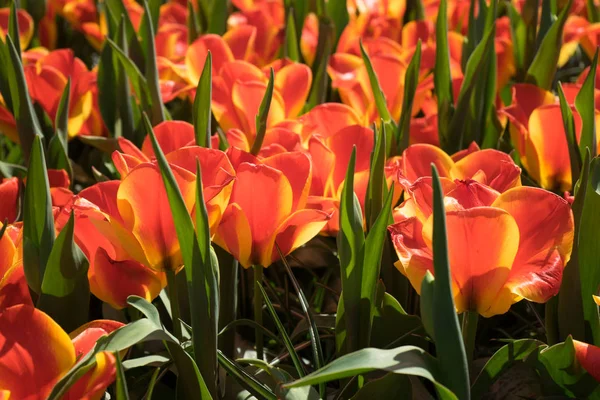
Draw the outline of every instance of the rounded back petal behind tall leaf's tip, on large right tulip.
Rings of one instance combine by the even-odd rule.
[[[450,177],[454,161],[442,149],[429,144],[409,146],[402,154],[402,175],[409,182],[431,176],[431,163],[435,164],[441,177]]]

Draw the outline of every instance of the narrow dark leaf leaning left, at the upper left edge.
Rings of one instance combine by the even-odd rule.
[[[19,133],[19,142],[23,150],[23,156],[25,160],[29,160],[34,137],[36,134],[41,133],[42,130],[33,109],[31,97],[29,97],[21,58],[10,36],[6,37],[6,46],[8,47],[8,54],[10,56],[10,64],[5,62],[3,67],[12,70],[9,85],[13,114],[17,122],[17,131]]]

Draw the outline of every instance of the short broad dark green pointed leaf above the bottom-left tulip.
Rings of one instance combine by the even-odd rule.
[[[52,247],[42,292],[37,307],[50,315],[66,332],[71,332],[88,321],[90,286],[89,261],[75,244],[75,217],[73,212]]]

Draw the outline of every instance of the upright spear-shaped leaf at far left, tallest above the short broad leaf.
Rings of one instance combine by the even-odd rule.
[[[23,269],[29,287],[42,291],[42,279],[54,245],[54,216],[41,136],[33,140],[23,207]]]

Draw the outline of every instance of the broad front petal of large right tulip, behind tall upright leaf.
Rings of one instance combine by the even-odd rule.
[[[519,249],[519,227],[506,211],[476,207],[446,213],[448,257],[457,290],[457,311],[477,311],[484,317],[503,314],[505,282]],[[433,216],[424,224],[423,238],[432,248]],[[494,240],[490,240],[493,237]]]

